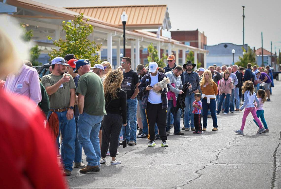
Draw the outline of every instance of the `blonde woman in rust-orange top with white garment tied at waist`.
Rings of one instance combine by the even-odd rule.
[[[211,111],[211,116],[213,119],[213,129],[212,131],[217,130],[217,102],[216,96],[218,93],[217,84],[212,80],[212,73],[210,70],[205,70],[203,73],[202,80],[200,81],[200,88],[202,91],[202,105],[203,105],[203,129],[207,129],[207,119],[208,119],[208,109]]]

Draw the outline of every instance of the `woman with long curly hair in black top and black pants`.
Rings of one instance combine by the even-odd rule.
[[[105,111],[103,116],[103,137],[101,140],[101,164],[106,162],[106,153],[109,146],[111,165],[121,164],[115,160],[119,134],[123,126],[127,125],[127,96],[121,89],[123,72],[119,69],[109,71],[103,82],[105,93]]]

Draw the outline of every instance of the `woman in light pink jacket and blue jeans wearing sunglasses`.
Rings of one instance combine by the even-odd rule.
[[[217,108],[217,115],[220,113],[221,111],[221,104],[223,103],[223,100],[226,97],[225,100],[225,112],[223,113],[223,115],[228,114],[229,111],[229,104],[230,104],[230,95],[231,95],[231,88],[233,87],[233,80],[229,77],[230,73],[228,70],[225,70],[225,72],[223,73],[223,78],[221,80],[219,80],[219,85],[218,85],[218,89],[219,89],[219,95],[220,95],[220,100],[219,100],[219,106]]]

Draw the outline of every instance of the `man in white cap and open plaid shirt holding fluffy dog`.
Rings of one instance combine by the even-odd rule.
[[[159,86],[153,87],[156,83],[167,78],[167,75],[158,72],[158,65],[156,62],[149,63],[148,74],[144,75],[139,84],[139,91],[143,92],[142,108],[146,109],[146,116],[148,120],[148,139],[150,140],[148,147],[155,146],[155,123],[159,129],[159,135],[162,140],[162,147],[168,147],[167,140],[167,92],[170,89],[170,84],[167,84],[168,90],[162,90]],[[159,91],[161,94],[154,92],[151,89]]]

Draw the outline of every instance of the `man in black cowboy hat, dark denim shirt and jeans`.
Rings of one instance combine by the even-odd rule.
[[[187,61],[186,64],[182,65],[186,67],[184,72],[185,82],[191,84],[191,92],[187,92],[185,96],[185,109],[184,109],[184,127],[185,131],[191,130],[194,131],[194,114],[192,113],[192,103],[195,101],[194,94],[201,91],[200,89],[200,78],[198,73],[192,71],[196,64],[192,64],[191,61]],[[189,117],[190,114],[190,117]],[[190,122],[191,121],[191,122]]]

